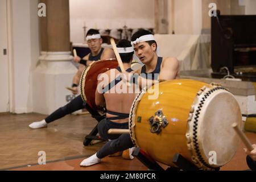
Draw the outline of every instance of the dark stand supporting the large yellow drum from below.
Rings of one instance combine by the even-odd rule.
[[[164,171],[164,169],[156,163],[151,156],[147,155],[140,148],[135,148],[133,151],[133,156],[135,156],[139,161],[141,161],[148,169],[155,171]],[[185,159],[181,154],[175,154],[172,160],[177,167],[169,167],[166,171],[199,171],[200,168],[196,167],[195,164],[191,163],[189,160]],[[220,168],[216,169],[216,171],[220,170]]]

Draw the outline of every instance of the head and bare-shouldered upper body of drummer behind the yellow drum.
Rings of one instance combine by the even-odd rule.
[[[179,61],[174,57],[159,57],[154,35],[147,30],[139,30],[131,37],[131,44],[139,60],[144,64],[136,73],[152,80],[173,80],[179,72]],[[158,75],[155,77],[154,74]],[[130,79],[130,76],[127,78]],[[141,85],[141,81],[139,82]]]

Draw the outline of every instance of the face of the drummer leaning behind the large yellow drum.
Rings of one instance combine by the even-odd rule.
[[[135,44],[134,51],[143,64],[149,63],[154,58],[155,44],[151,46],[147,42]]]

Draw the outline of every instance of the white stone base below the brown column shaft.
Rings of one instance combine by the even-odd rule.
[[[68,103],[66,96],[72,93],[65,87],[72,85],[77,72],[72,60],[71,52],[41,52],[32,72],[34,112],[48,115]]]

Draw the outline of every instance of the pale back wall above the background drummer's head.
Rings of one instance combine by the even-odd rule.
[[[71,42],[84,40],[82,27],[154,28],[154,0],[70,0]],[[113,31],[112,36],[117,36]]]

